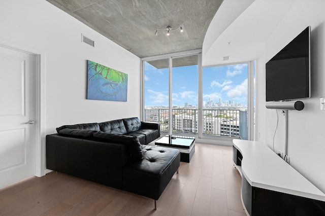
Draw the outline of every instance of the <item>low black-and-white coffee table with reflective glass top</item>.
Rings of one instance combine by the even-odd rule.
[[[158,139],[155,145],[178,149],[181,152],[181,161],[187,163],[195,152],[195,138],[190,136],[166,135]]]

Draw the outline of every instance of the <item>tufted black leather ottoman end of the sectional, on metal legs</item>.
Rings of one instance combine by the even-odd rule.
[[[143,160],[123,168],[123,190],[159,199],[180,165],[180,151],[142,145]],[[146,179],[144,182],[143,179]]]

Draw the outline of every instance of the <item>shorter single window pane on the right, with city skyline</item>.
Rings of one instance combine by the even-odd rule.
[[[203,68],[203,137],[251,139],[250,74],[251,62]]]

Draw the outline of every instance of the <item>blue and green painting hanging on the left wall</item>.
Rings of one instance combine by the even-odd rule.
[[[87,99],[127,100],[127,74],[88,60]]]

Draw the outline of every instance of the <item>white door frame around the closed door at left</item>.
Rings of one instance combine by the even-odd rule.
[[[35,175],[45,175],[45,52],[0,39],[0,46],[36,56]]]

